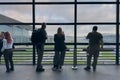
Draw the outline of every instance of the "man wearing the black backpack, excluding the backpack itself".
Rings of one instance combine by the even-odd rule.
[[[36,72],[44,71],[41,62],[43,58],[44,44],[47,39],[47,33],[45,29],[46,29],[45,23],[42,23],[42,27],[38,29],[39,40],[38,43],[36,44],[37,55],[38,55]]]

